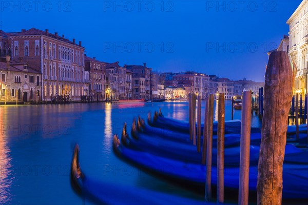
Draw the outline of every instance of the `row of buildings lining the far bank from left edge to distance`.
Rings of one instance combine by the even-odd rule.
[[[227,99],[243,89],[262,86],[196,72],[153,72],[143,65],[106,63],[86,56],[82,42],[35,28],[0,30],[0,101],[79,101],[176,99],[224,92]]]

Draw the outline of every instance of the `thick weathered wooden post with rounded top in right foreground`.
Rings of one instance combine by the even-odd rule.
[[[293,74],[285,51],[274,51],[265,73],[264,115],[258,164],[258,204],[281,204],[282,164]]]

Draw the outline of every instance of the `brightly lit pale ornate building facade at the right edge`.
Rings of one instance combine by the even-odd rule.
[[[292,58],[296,76],[294,92],[306,94],[308,90],[308,1],[302,1],[287,20],[290,26],[288,54]]]

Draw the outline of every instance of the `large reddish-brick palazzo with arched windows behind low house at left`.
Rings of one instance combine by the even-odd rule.
[[[42,73],[43,101],[51,101],[56,96],[66,96],[70,100],[80,100],[88,85],[84,81],[84,50],[81,42],[70,41],[46,31],[31,28],[20,32],[6,33],[11,39],[11,57],[15,61],[27,63]]]

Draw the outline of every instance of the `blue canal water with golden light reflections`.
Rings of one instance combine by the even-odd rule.
[[[204,106],[203,101],[202,119]],[[112,151],[113,134],[121,134],[124,122],[130,130],[134,116],[146,119],[149,111],[159,108],[166,117],[188,121],[188,103],[0,106],[0,204],[92,204],[70,186],[75,144],[80,146],[81,168],[88,176],[127,189],[202,199],[128,165]],[[216,102],[214,113],[217,120]],[[234,118],[240,117],[241,111],[236,110]],[[231,119],[230,101],[226,101],[225,118]],[[252,125],[261,126],[255,114]]]

